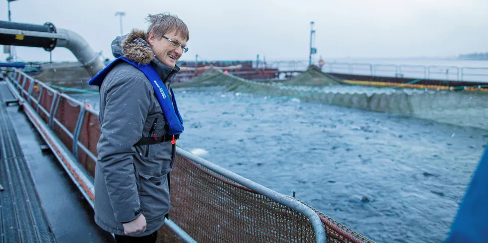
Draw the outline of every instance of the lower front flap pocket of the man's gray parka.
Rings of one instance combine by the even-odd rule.
[[[142,214],[147,221],[165,215],[169,211],[170,199],[168,188],[168,174],[161,174],[161,167],[156,171],[139,171],[140,204]]]

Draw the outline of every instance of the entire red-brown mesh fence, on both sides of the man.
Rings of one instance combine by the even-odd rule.
[[[32,91],[33,94],[35,92],[39,91]],[[39,105],[49,112],[54,93],[48,88],[42,88],[40,93]],[[55,118],[73,134],[80,109],[80,105],[61,96]],[[42,111],[39,111],[39,115],[48,121]],[[68,134],[58,124],[54,124],[53,130],[71,151],[73,140]],[[98,116],[86,111],[79,141],[95,157],[98,156],[96,147],[99,137]],[[94,176],[96,161],[80,147],[78,153],[80,164]],[[315,211],[322,220],[328,243],[373,243],[327,215]],[[315,242],[313,226],[304,215],[181,155],[176,156],[171,172],[170,218],[201,243]],[[158,233],[158,243],[183,243],[167,226],[159,229]]]

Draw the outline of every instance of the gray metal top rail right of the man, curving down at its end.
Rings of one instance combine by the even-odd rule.
[[[183,157],[186,157],[193,162],[196,162],[220,175],[223,175],[233,181],[238,182],[239,184],[252,189],[259,194],[266,196],[272,200],[275,200],[276,202],[285,205],[301,214],[306,216],[309,220],[310,223],[313,225],[314,230],[315,230],[315,238],[317,240],[317,243],[326,243],[326,234],[325,234],[325,229],[322,225],[322,221],[320,220],[319,216],[317,213],[315,213],[314,210],[306,206],[305,204],[292,199],[288,196],[282,195],[278,192],[275,192],[267,187],[264,187],[256,182],[253,182],[247,178],[242,177],[241,175],[238,175],[232,171],[229,171],[225,168],[220,167],[219,165],[213,164],[212,162],[209,162],[205,159],[202,159],[198,156],[193,155],[190,152],[187,152],[179,147],[176,147],[176,152],[180,154]]]

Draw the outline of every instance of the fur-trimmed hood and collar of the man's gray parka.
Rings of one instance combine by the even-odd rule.
[[[145,31],[138,29],[133,29],[126,35],[118,36],[112,41],[112,54],[116,58],[123,56],[139,65],[152,63],[156,67],[161,80],[171,81],[180,68],[176,65],[174,68],[168,67],[157,60],[147,42],[146,36]],[[173,74],[173,77],[166,79],[171,74]]]

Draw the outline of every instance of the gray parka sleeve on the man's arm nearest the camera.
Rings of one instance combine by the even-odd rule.
[[[118,222],[141,214],[134,172],[133,145],[142,137],[152,89],[145,78],[127,75],[111,85],[106,95],[104,121],[98,145],[99,165]],[[95,199],[96,200],[96,199]]]

